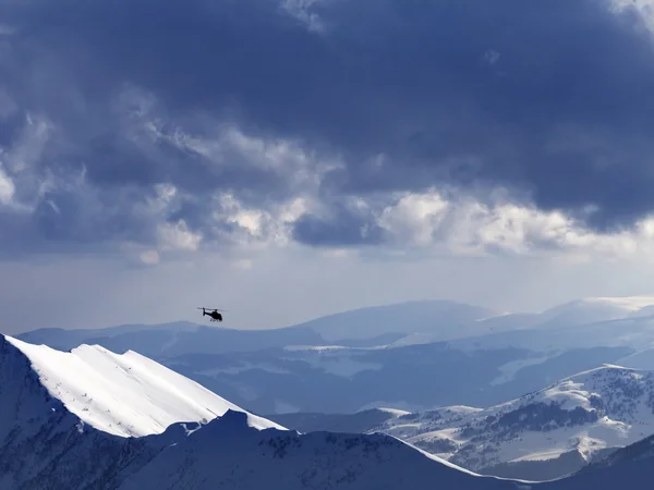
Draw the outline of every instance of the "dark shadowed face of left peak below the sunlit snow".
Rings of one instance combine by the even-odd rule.
[[[85,426],[0,336],[0,490],[101,488],[93,482],[159,450]]]

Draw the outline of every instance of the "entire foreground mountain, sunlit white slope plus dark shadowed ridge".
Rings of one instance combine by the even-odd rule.
[[[521,488],[386,434],[287,430],[99,346],[63,353],[0,336],[0,400],[2,490]]]

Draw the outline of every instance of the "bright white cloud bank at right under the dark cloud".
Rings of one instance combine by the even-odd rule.
[[[633,231],[593,232],[560,211],[499,201],[485,205],[471,198],[448,201],[436,191],[408,194],[386,207],[378,224],[405,247],[444,248],[453,255],[487,255],[494,250],[517,255],[597,253],[633,256],[653,247],[654,219]]]

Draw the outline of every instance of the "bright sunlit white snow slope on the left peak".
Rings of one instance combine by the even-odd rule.
[[[98,345],[69,353],[7,336],[29,359],[41,384],[85,424],[117,436],[160,433],[178,421],[208,421],[242,408],[135,352]],[[253,425],[271,422],[249,415]]]

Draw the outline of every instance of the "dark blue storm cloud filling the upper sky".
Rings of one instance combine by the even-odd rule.
[[[171,182],[192,196],[174,218],[195,226],[217,188],[252,204],[293,189],[239,155],[216,169],[169,139],[134,138],[124,114],[131,105],[138,112],[140,99],[116,108],[125,87],[153,94],[155,115],[199,134],[234,121],[247,133],[342,156],[346,167],[323,183],[330,198],[504,185],[545,209],[593,205],[588,221],[604,230],[654,206],[654,49],[634,12],[609,7],[322,0],[306,8],[325,26],[315,32],[274,0],[5,0],[0,19],[16,32],[0,38],[0,75],[19,107],[46,113],[59,131],[39,164],[71,172],[84,164],[87,185],[105,196],[125,185],[144,189],[133,193],[136,204],[153,184]],[[22,119],[0,122],[3,145],[13,140],[12,121]],[[82,218],[52,226],[56,217],[85,216],[71,196],[61,203],[70,212],[44,208],[35,218],[41,234],[81,233]],[[123,208],[107,207],[106,230],[141,237],[143,220],[120,222]],[[382,240],[359,234],[362,217],[336,216],[338,223],[302,218],[296,240]]]

